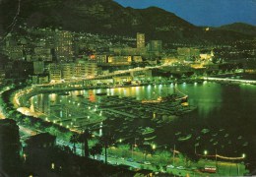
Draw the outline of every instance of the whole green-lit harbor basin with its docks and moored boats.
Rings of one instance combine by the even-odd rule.
[[[247,119],[246,116],[246,120],[249,120],[246,122],[246,129],[240,127],[240,131],[232,125],[244,122],[245,115],[255,113],[250,108],[255,105],[255,99],[251,96],[254,95],[253,86],[230,88],[205,82],[200,85],[181,84],[178,89],[189,95],[187,106],[177,101],[142,102],[164,97],[166,92],[172,94],[173,85],[72,90],[69,95],[43,93],[33,96],[31,103],[34,109],[47,115],[50,113],[48,120],[53,121],[58,117],[56,122],[65,127],[77,130],[90,127],[96,135],[101,135],[103,131],[99,124],[102,122],[101,128],[108,128],[116,140],[122,139],[128,144],[136,138],[138,145],[176,145],[180,151],[188,154],[194,154],[195,147],[198,151],[205,148],[209,151],[218,149],[220,153],[230,156],[237,156],[242,152],[255,153],[253,147],[256,145],[250,141],[250,136],[254,135],[250,133],[254,130],[251,127],[254,119]],[[224,98],[221,98],[221,90],[226,95]],[[241,93],[239,96],[237,91]],[[96,95],[97,92],[107,94]],[[240,96],[246,97],[246,102]],[[233,99],[239,101],[234,104]],[[238,107],[249,112],[233,113]],[[140,130],[147,127],[154,129],[154,132],[144,136]]]

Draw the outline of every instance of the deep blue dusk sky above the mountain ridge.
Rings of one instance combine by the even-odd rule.
[[[114,0],[124,7],[157,6],[196,25],[218,27],[235,22],[256,26],[256,0]]]

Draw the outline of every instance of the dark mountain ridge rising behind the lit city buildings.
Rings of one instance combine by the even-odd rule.
[[[9,31],[18,3],[4,0],[0,4],[0,32]],[[157,7],[143,10],[124,8],[112,0],[23,0],[17,25],[53,27],[104,34],[135,36],[145,32],[147,39],[166,42],[220,43],[252,38],[238,30],[203,28],[180,19]]]

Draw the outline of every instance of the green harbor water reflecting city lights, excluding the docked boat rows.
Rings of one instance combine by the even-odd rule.
[[[88,119],[94,117],[93,114],[88,113],[88,110],[96,109],[100,101],[105,101],[104,97],[106,97],[106,95],[96,95],[98,92],[105,92],[108,96],[134,97],[132,101],[141,102],[171,94],[173,87],[168,84],[75,90],[69,91],[67,95],[43,93],[33,96],[31,103],[34,111],[48,115],[47,118],[55,119],[55,122],[61,122],[60,120],[63,119],[65,124],[69,119],[74,120],[73,117],[77,120],[84,120],[85,115]],[[245,153],[245,162],[248,166],[256,164],[256,86],[204,82],[184,83],[176,87],[189,96],[189,106],[196,109],[180,115],[169,115],[167,121],[154,120],[155,117],[160,117],[160,112],[157,112],[157,115],[153,113],[151,118],[137,112],[136,118],[131,120],[133,115],[131,110],[127,116],[122,114],[122,118],[115,116],[118,114],[115,110],[102,120],[101,125],[109,126],[115,132],[119,131],[118,134],[116,133],[116,139],[121,139],[123,136],[124,139],[134,141],[142,134],[143,129],[150,128],[154,131],[151,132],[152,139],[151,137],[149,139],[160,148],[171,149],[175,145],[175,149],[185,154],[195,152],[202,154],[204,150],[208,150],[209,154],[218,153],[226,157],[238,157]],[[124,106],[120,110],[125,110],[125,102],[120,102],[119,106],[121,105]],[[107,115],[107,106],[96,113]],[[131,114],[130,119],[128,114]],[[89,124],[88,126],[90,127]],[[98,134],[101,134],[100,130]]]

